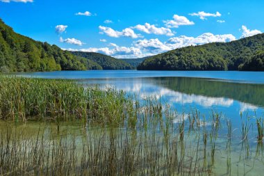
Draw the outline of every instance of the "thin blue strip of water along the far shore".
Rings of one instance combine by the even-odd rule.
[[[107,78],[144,78],[144,77],[197,77],[222,79],[226,81],[264,83],[264,72],[238,71],[138,71],[138,70],[92,70],[60,72],[17,73],[26,77],[49,79],[107,79]]]

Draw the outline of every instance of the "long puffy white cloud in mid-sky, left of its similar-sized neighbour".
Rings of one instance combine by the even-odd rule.
[[[119,37],[129,37],[129,38],[142,38],[142,35],[137,34],[131,28],[123,29],[122,31],[115,31],[110,27],[99,26],[101,33],[106,33],[109,37],[119,38]]]

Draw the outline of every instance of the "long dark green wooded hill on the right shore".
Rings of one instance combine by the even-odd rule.
[[[147,58],[138,70],[264,70],[264,34],[183,47]]]

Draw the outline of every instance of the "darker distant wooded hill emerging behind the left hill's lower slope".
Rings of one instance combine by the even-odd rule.
[[[90,59],[91,61],[101,65],[104,70],[131,70],[133,66],[120,59],[106,56],[104,54],[93,52],[72,51],[75,56]]]

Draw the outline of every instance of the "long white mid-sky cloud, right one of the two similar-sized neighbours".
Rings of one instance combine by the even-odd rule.
[[[138,31],[142,31],[145,33],[154,33],[156,35],[167,35],[173,36],[174,33],[170,29],[161,27],[158,28],[155,25],[151,25],[149,23],[145,23],[145,25],[138,24],[137,26],[133,27],[134,29],[138,29]]]

